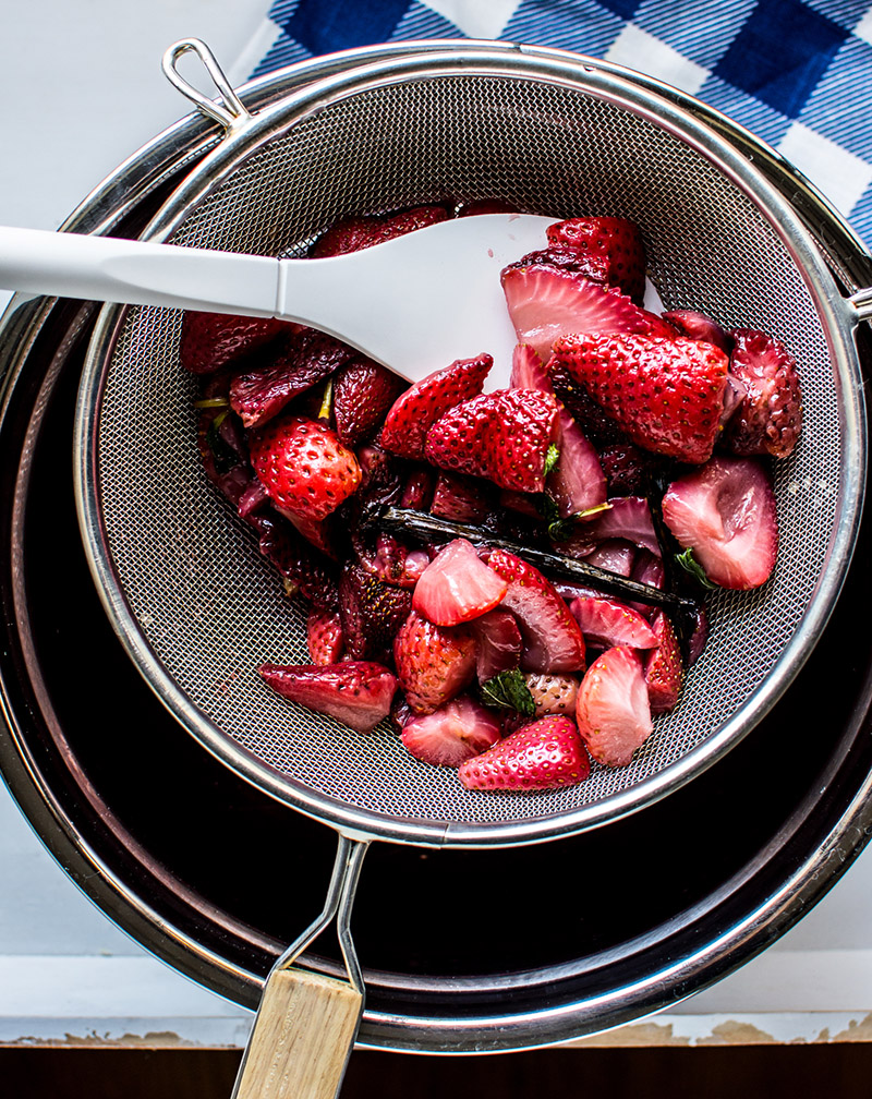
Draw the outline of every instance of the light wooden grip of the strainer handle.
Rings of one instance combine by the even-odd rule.
[[[334,1099],[362,1009],[362,995],[345,981],[273,970],[234,1099]]]

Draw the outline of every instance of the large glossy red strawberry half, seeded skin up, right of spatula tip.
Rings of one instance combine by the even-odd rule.
[[[631,442],[681,462],[705,462],[717,437],[729,360],[694,340],[564,336],[555,359]]]

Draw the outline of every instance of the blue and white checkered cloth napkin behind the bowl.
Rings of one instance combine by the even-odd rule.
[[[250,75],[463,37],[589,54],[697,97],[778,149],[872,245],[872,0],[273,0]]]

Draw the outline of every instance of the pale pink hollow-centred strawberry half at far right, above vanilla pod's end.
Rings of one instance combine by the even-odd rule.
[[[669,486],[662,511],[713,584],[747,589],[769,579],[778,554],[775,497],[754,458],[712,458]]]

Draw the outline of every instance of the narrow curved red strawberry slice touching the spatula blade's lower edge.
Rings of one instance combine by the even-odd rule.
[[[401,458],[423,458],[431,425],[455,404],[480,393],[492,366],[490,355],[459,358],[416,381],[388,411],[380,445]]]

